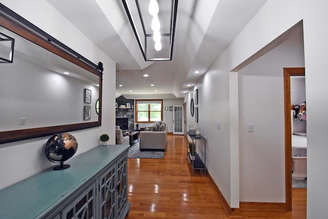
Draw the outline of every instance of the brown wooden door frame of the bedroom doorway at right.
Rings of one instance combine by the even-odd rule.
[[[305,76],[305,68],[283,68],[283,96],[285,117],[285,196],[286,210],[292,210],[292,118],[291,76]]]

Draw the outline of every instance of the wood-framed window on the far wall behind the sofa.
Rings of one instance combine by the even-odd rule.
[[[163,120],[163,100],[136,100],[136,122]]]

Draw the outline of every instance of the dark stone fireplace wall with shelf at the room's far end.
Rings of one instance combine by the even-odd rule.
[[[116,118],[128,118],[129,129],[134,128],[134,100],[126,99],[124,96],[116,98]]]

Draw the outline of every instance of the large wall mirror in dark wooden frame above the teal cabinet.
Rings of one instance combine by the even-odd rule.
[[[0,144],[101,125],[101,62],[92,63],[2,4],[0,33]],[[84,108],[95,104],[85,119]]]

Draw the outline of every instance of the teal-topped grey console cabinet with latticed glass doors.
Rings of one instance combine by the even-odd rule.
[[[97,146],[0,190],[0,218],[125,218],[129,147]]]

